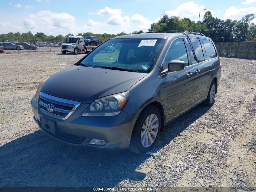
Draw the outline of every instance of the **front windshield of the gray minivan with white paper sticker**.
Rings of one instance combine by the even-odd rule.
[[[110,39],[81,63],[96,67],[118,67],[148,73],[163,46],[164,39]]]

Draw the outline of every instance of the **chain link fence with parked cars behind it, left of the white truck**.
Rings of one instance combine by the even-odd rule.
[[[5,52],[47,52],[60,51],[60,46],[65,41],[65,37],[43,37],[38,38],[32,35],[31,37],[6,37],[0,38],[0,43],[5,49]]]

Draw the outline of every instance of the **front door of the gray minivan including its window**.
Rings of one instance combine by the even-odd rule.
[[[194,90],[194,69],[193,66],[188,65],[186,47],[183,38],[176,39],[172,42],[165,57],[167,65],[172,60],[185,62],[183,70],[168,72],[166,76],[168,97],[167,122],[191,108]]]

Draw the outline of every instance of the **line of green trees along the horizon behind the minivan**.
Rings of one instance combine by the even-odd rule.
[[[241,42],[241,41],[254,41],[256,40],[256,23],[252,20],[255,18],[254,14],[245,15],[240,20],[221,20],[217,17],[214,18],[210,11],[204,14],[202,21],[195,22],[189,18],[180,18],[177,16],[168,17],[167,14],[159,19],[158,22],[152,23],[148,31],[168,31],[168,30],[190,30],[193,32],[201,32],[205,36],[210,37],[213,42]],[[142,30],[134,31],[130,34],[143,33]],[[66,36],[73,35],[71,33],[67,35],[45,35],[43,32],[37,32],[35,35],[32,32],[22,33],[19,32],[0,34],[0,41],[15,40],[25,42],[37,42],[37,41],[50,41],[61,42]],[[78,33],[79,36],[97,36],[99,41],[106,41],[112,37],[119,35],[128,35],[128,33],[121,32],[118,34],[94,34],[91,32]]]

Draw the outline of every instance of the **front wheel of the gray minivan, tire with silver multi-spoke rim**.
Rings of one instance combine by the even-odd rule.
[[[148,118],[151,118],[151,121],[157,118],[157,120],[152,125],[157,126],[158,123],[158,126],[152,129],[151,124],[146,122]],[[155,142],[158,139],[160,129],[161,115],[159,110],[153,105],[147,106],[145,109],[143,109],[133,127],[129,150],[137,154],[143,154],[150,151],[154,147]],[[153,132],[154,134],[152,134]]]

